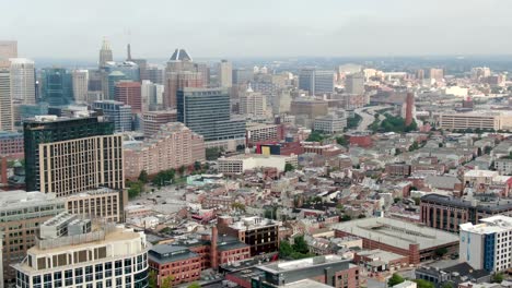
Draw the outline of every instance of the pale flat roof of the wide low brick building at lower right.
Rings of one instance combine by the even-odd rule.
[[[454,233],[392,218],[364,218],[336,224],[331,228],[402,249],[409,249],[412,243],[418,243],[420,250],[458,243],[458,236]]]

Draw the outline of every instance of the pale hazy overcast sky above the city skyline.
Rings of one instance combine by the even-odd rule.
[[[0,0],[20,56],[512,55],[511,0]]]

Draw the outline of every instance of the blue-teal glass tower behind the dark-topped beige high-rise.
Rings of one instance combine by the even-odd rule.
[[[61,68],[43,70],[43,100],[49,106],[69,105],[74,101],[71,73]]]

